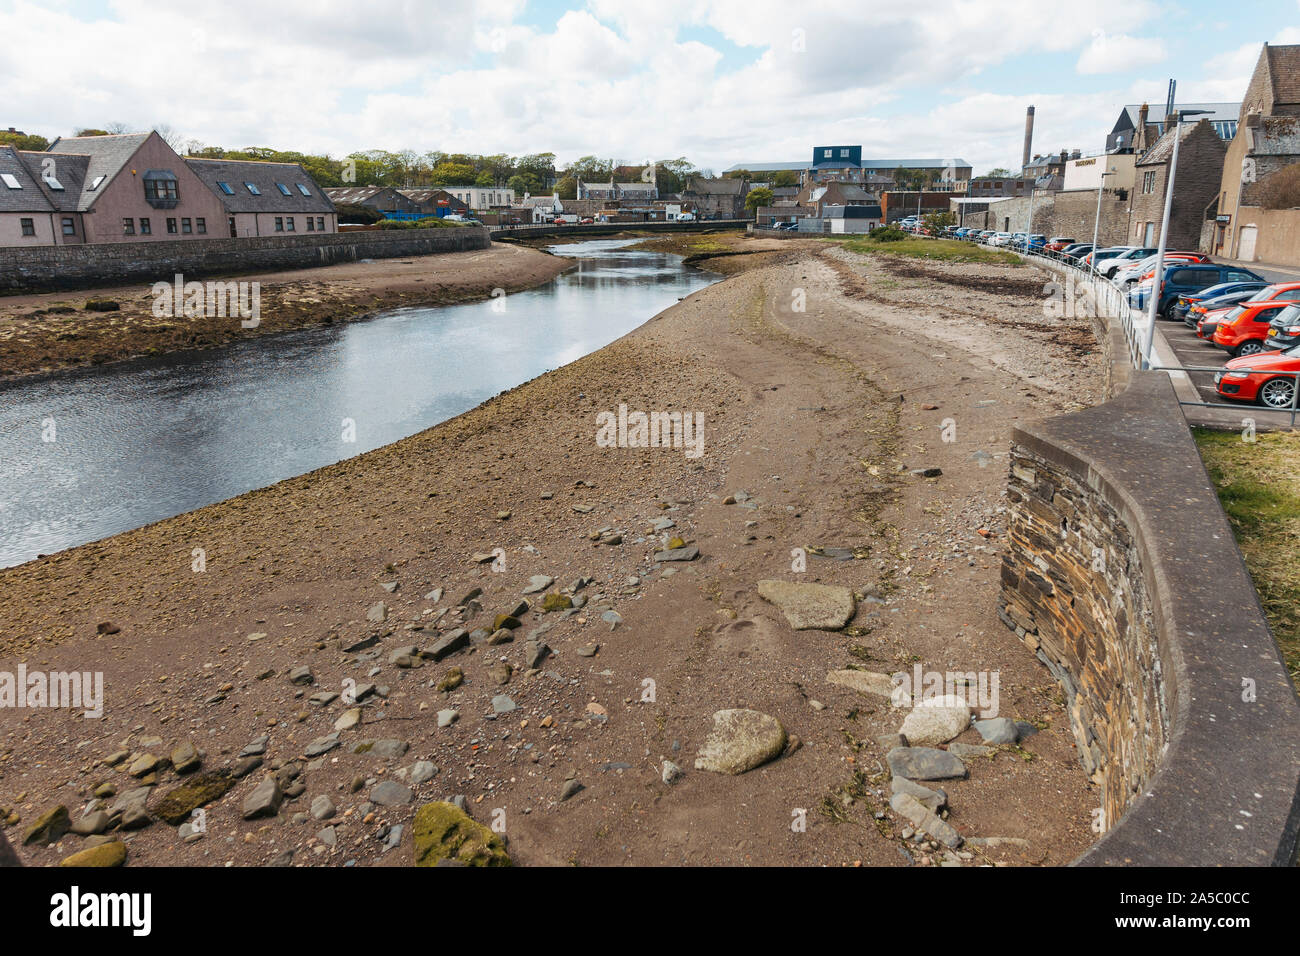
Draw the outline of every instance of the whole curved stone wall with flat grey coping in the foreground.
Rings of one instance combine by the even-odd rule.
[[[1079,865],[1287,865],[1300,704],[1169,377],[1013,432],[1002,615],[1060,680],[1104,835]]]

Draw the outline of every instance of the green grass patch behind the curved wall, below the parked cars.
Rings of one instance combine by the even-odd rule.
[[[1300,434],[1193,428],[1292,680],[1300,680]]]

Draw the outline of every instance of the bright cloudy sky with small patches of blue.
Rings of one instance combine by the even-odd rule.
[[[705,168],[1098,150],[1119,108],[1239,100],[1300,0],[0,0],[0,129],[166,124],[335,156]]]

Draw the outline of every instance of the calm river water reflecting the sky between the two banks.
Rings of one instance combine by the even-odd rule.
[[[577,268],[507,297],[504,311],[491,302],[400,310],[0,385],[0,567],[404,438],[608,345],[716,280],[677,256],[625,248],[632,242],[554,247]],[[343,441],[344,419],[355,442]]]

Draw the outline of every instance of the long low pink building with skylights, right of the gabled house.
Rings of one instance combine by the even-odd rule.
[[[298,163],[185,160],[225,207],[222,235],[337,233],[338,213]]]

